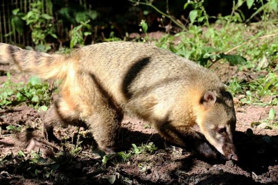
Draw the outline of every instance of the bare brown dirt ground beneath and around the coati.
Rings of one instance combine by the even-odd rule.
[[[4,82],[6,77],[2,74],[0,80]],[[132,143],[140,146],[149,142],[158,150],[133,155],[124,162],[112,156],[104,165],[103,154],[86,128],[55,128],[55,135],[63,142],[48,143],[43,138],[42,113],[26,105],[0,109],[0,184],[277,184],[278,130],[251,127],[252,122],[266,119],[272,107],[242,106],[238,97],[235,105],[236,163],[204,159],[173,147],[148,123],[126,117],[119,133],[119,151],[130,150]],[[278,112],[277,107],[274,109]],[[23,129],[10,134],[8,125]],[[75,153],[77,146],[81,149]],[[22,160],[16,155],[23,151],[28,157],[31,150],[44,153],[40,161]]]

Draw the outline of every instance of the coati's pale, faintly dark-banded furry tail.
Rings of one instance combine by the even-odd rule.
[[[0,63],[15,64],[20,70],[33,73],[43,79],[65,78],[70,66],[68,59],[67,55],[23,50],[0,43]]]

